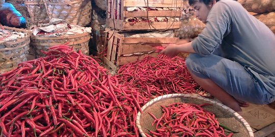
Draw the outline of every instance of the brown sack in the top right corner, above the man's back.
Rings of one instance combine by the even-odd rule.
[[[274,0],[238,0],[238,2],[249,12],[266,13],[275,11]]]

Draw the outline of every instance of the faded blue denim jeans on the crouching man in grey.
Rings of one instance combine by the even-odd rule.
[[[236,99],[260,105],[269,104],[275,99],[274,95],[236,61],[213,54],[190,54],[186,58],[186,65],[190,73],[212,80]]]

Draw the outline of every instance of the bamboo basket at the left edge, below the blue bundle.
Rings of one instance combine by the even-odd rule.
[[[18,63],[27,60],[31,37],[31,32],[28,30],[7,26],[4,28],[9,31],[25,32],[27,36],[16,41],[0,42],[1,47],[5,47],[0,48],[0,73],[12,70]]]

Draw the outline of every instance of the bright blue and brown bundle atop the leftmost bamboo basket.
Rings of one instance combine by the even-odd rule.
[[[9,3],[0,7],[0,22],[9,27],[26,27],[25,18]]]

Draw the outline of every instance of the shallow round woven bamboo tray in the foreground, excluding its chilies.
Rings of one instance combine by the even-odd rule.
[[[153,127],[151,125],[154,119],[148,114],[148,112],[152,113],[156,118],[159,118],[162,115],[160,105],[168,106],[175,102],[212,104],[212,106],[205,106],[203,108],[212,112],[219,123],[230,127],[234,131],[238,131],[238,133],[234,133],[233,136],[254,136],[249,123],[246,122],[237,112],[215,100],[197,94],[168,94],[159,96],[147,102],[147,104],[142,107],[143,113],[137,113],[136,117],[136,126],[139,128],[140,134],[145,137],[145,132],[150,134],[148,129],[155,130],[155,126]]]

